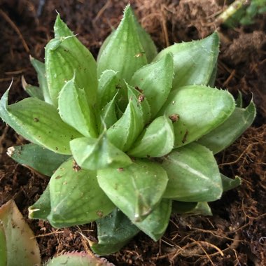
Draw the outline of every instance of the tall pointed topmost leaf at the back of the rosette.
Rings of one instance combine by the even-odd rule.
[[[137,69],[147,64],[146,54],[141,44],[134,13],[127,5],[123,20],[111,35],[98,61],[98,76],[106,69],[118,72],[118,78],[128,83]],[[127,99],[126,86],[120,89],[120,95]]]

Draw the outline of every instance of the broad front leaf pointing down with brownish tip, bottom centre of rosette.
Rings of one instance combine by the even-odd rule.
[[[136,159],[123,169],[97,172],[99,186],[131,221],[142,221],[160,202],[167,173],[155,162]]]

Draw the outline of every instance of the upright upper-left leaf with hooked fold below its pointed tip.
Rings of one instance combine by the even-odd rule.
[[[57,16],[55,36],[45,47],[45,73],[52,103],[67,80],[76,76],[77,87],[85,90],[87,101],[94,106],[97,94],[96,62],[85,46]]]

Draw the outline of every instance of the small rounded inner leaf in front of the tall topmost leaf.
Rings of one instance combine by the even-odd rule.
[[[116,71],[106,70],[99,78],[99,86],[97,90],[97,105],[102,109],[106,104],[111,102],[113,97],[121,88],[121,81],[117,76]]]

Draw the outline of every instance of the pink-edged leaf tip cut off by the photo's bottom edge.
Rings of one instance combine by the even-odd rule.
[[[58,257],[52,258],[43,266],[114,266],[113,263],[108,262],[104,258],[90,255],[85,252],[71,252],[64,253]]]

